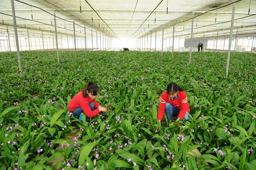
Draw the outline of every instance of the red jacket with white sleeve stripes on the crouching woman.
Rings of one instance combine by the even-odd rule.
[[[162,93],[162,96],[160,98],[160,104],[158,109],[158,120],[163,120],[164,116],[164,110],[165,110],[165,103],[169,102],[171,103],[175,108],[180,109],[180,113],[178,118],[183,119],[185,117],[186,112],[189,111],[189,105],[188,105],[188,99],[185,91],[179,91],[178,92],[178,98],[176,100],[172,100],[168,94],[167,91]]]

